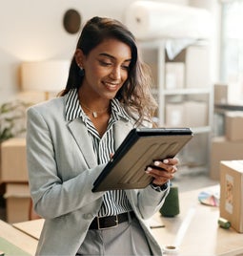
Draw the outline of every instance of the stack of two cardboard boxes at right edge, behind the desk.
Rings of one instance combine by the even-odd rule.
[[[210,177],[220,179],[221,160],[243,160],[243,112],[225,113],[225,135],[215,137],[211,147]]]

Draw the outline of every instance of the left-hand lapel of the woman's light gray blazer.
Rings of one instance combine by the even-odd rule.
[[[88,134],[87,128],[84,123],[76,118],[68,124],[71,134],[76,140],[83,156],[90,168],[97,165],[97,159],[93,152],[91,137]]]

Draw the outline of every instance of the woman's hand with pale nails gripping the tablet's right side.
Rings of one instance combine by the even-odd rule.
[[[155,185],[163,185],[174,177],[177,171],[176,164],[179,160],[167,159],[167,160],[154,160],[153,166],[149,166],[146,169],[146,173],[153,177],[152,183]]]

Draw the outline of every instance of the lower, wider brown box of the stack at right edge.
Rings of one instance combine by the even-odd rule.
[[[211,144],[210,178],[219,181],[221,160],[242,160],[243,141],[231,141],[225,137],[215,137]]]

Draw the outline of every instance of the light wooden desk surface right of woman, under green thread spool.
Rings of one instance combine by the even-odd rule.
[[[165,218],[156,214],[153,220],[165,224],[165,227],[152,229],[159,245],[174,245],[177,241],[180,256],[243,255],[243,234],[233,228],[219,227],[218,207],[204,205],[197,200],[201,191],[215,189],[219,188],[212,186],[181,193],[180,214],[176,217]]]

